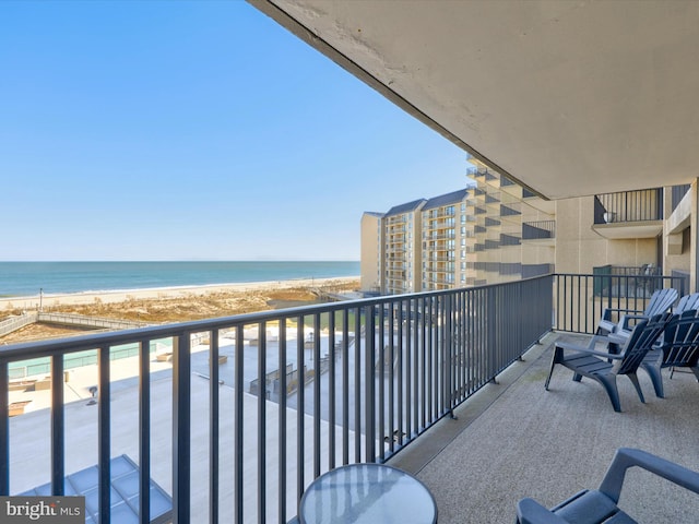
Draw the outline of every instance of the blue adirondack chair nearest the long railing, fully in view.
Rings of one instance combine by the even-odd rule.
[[[554,368],[556,365],[561,365],[572,370],[572,380],[576,382],[580,382],[582,377],[600,382],[609,395],[615,412],[621,410],[616,386],[616,377],[619,374],[626,374],[629,378],[639,398],[644,403],[645,400],[636,372],[671,318],[672,313],[662,313],[640,321],[633,327],[631,335],[623,342],[619,353],[595,349],[599,343],[608,345],[608,338],[599,335],[593,336],[588,346],[557,342],[544,388],[548,391]]]

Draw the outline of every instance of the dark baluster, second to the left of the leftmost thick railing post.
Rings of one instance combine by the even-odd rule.
[[[99,524],[109,524],[111,522],[110,511],[110,490],[111,490],[111,392],[109,383],[109,347],[103,346],[97,349],[98,373],[97,382],[98,405],[97,405],[97,455],[99,464],[99,478],[97,481],[97,492],[99,493]],[[62,377],[61,377],[62,378]],[[61,381],[61,388],[62,388]],[[146,486],[150,487],[150,484]],[[147,488],[146,488],[147,489]],[[139,496],[143,496],[143,489],[139,489]]]

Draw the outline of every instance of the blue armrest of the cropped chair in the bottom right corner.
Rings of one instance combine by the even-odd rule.
[[[633,466],[641,467],[685,489],[699,493],[699,473],[632,448],[619,448],[617,450],[604,476],[604,480],[600,485],[600,491],[618,502],[626,471]]]

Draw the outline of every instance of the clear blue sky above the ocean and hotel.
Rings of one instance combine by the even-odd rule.
[[[0,2],[0,260],[359,260],[465,158],[245,2]]]

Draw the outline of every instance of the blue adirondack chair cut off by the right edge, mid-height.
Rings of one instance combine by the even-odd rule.
[[[650,350],[641,368],[651,378],[655,395],[663,398],[663,368],[688,368],[699,380],[699,311],[675,314],[667,323],[660,345]]]

